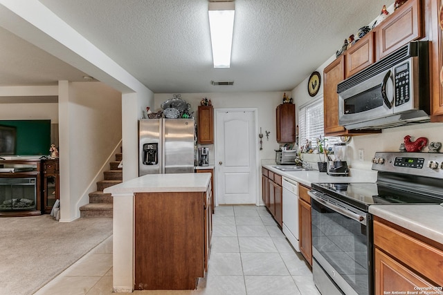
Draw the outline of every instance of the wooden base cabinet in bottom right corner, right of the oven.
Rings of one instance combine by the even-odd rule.
[[[376,295],[416,287],[443,292],[443,245],[376,217],[374,247]]]

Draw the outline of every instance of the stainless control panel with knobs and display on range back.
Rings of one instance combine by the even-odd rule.
[[[377,152],[372,158],[372,170],[443,179],[443,154]]]

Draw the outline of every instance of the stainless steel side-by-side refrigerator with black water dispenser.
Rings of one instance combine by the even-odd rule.
[[[194,172],[194,119],[138,120],[138,176]]]

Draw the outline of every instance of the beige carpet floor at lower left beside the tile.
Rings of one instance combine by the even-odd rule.
[[[112,218],[0,218],[0,294],[33,294],[111,234]]]

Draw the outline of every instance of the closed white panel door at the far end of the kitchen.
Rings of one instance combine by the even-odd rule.
[[[256,111],[215,110],[218,204],[256,204]]]

